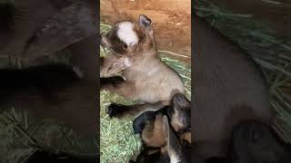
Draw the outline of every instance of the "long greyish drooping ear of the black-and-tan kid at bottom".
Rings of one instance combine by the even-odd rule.
[[[166,137],[166,150],[171,159],[171,162],[182,160],[182,147],[179,139],[172,128],[169,126],[169,121],[166,116],[163,117],[163,131]]]

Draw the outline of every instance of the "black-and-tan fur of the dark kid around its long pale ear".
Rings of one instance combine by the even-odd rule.
[[[141,135],[146,147],[161,148],[166,145],[163,132],[163,116],[169,118],[173,130],[181,142],[191,144],[191,106],[182,94],[175,94],[171,106],[157,111],[146,111],[133,122],[135,133]]]

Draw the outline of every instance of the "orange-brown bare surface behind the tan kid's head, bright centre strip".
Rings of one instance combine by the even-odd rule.
[[[191,1],[190,0],[101,0],[101,19],[105,24],[120,20],[137,20],[146,14],[154,26],[157,49],[169,57],[190,64]]]

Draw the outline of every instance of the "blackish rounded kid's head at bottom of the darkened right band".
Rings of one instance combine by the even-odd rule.
[[[198,158],[197,158],[198,159]],[[270,126],[247,120],[236,125],[226,158],[207,158],[201,163],[286,163],[291,146],[279,139]]]

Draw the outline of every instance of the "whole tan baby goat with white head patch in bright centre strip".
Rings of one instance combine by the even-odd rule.
[[[107,110],[110,117],[138,115],[145,110],[157,110],[169,104],[176,92],[185,92],[181,77],[156,54],[152,22],[140,15],[138,23],[121,21],[102,35],[101,43],[114,56],[101,58],[101,72],[110,71],[111,63],[119,62],[122,77],[101,78],[101,89],[112,91],[127,99],[145,102],[126,106],[112,103]]]

